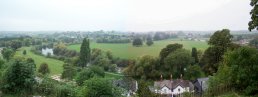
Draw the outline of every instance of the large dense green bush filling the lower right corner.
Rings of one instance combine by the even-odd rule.
[[[225,54],[216,75],[210,81],[210,88],[230,86],[246,95],[258,93],[258,51],[241,47]]]

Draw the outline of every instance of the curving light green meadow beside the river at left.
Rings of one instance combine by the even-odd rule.
[[[30,51],[30,48],[31,47],[22,47],[22,48],[18,49],[18,51],[16,51],[15,56],[22,56],[25,58],[33,58],[36,63],[37,70],[41,63],[46,62],[50,69],[50,75],[61,74],[63,72],[63,64],[64,64],[63,61],[36,55]],[[26,55],[22,54],[23,50],[27,51]]]

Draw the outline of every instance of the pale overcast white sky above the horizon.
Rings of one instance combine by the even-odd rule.
[[[250,0],[0,0],[0,31],[247,30]]]

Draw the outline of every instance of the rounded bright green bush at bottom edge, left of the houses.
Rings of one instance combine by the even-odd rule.
[[[122,97],[121,89],[105,78],[86,80],[79,90],[78,97]]]

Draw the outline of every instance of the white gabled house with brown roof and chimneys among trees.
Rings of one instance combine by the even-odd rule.
[[[154,93],[162,95],[178,95],[184,92],[194,92],[194,85],[188,80],[175,79],[155,81],[154,86],[150,87]]]

